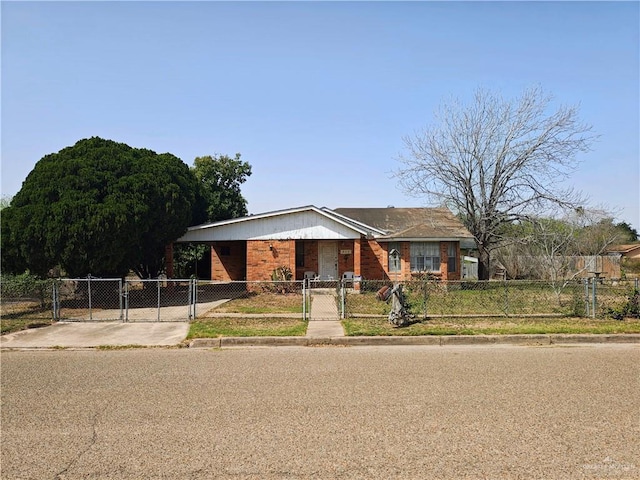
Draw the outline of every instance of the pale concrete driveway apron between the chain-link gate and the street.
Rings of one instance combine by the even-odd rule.
[[[0,347],[172,346],[182,342],[188,330],[187,322],[59,322],[49,327],[3,335]]]

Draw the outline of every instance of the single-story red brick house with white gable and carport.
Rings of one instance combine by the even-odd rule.
[[[190,227],[176,243],[211,245],[211,279],[271,280],[288,267],[292,279],[406,280],[430,273],[461,278],[461,248],[473,236],[443,208],[306,206]],[[172,274],[172,260],[167,272]]]

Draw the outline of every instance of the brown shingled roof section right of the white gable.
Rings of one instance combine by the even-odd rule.
[[[447,208],[336,208],[334,212],[387,232],[382,238],[473,238]]]

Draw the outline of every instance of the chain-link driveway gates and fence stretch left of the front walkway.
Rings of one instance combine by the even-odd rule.
[[[221,315],[273,312],[306,318],[309,302],[304,291],[303,282],[89,277],[56,280],[49,298],[55,320],[181,322],[215,309]],[[245,299],[245,306],[222,307],[234,299]]]

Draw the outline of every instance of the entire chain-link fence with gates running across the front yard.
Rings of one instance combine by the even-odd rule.
[[[391,281],[212,282],[79,278],[2,282],[2,317],[163,322],[214,316],[304,320],[388,316],[377,292]],[[25,283],[26,282],[26,283]],[[459,316],[639,317],[638,280],[403,282],[417,318]]]

